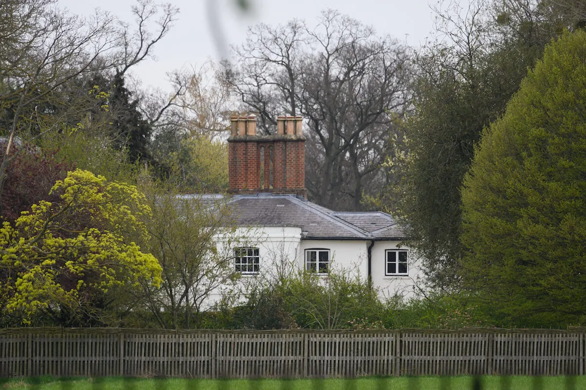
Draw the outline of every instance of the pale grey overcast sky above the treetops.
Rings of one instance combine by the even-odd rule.
[[[99,7],[131,22],[134,0],[58,0],[62,8],[80,15],[90,15]],[[372,25],[377,34],[390,36],[418,47],[433,29],[434,15],[430,4],[437,0],[248,0],[250,12],[243,15],[235,6],[237,0],[171,0],[179,7],[178,20],[169,34],[155,47],[155,60],[147,60],[134,69],[142,86],[168,89],[166,73],[182,67],[199,68],[207,58],[221,57],[212,33],[219,27],[227,45],[239,44],[246,38],[250,25],[284,24],[293,18],[315,25],[323,9],[333,8]],[[210,4],[218,10],[217,22],[209,18]]]

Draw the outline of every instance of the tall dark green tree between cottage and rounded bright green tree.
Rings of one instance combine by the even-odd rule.
[[[553,3],[479,0],[466,12],[449,2],[455,8],[437,10],[437,40],[415,60],[414,110],[404,126],[407,158],[390,161],[401,181],[385,195],[393,195],[388,204],[420,251],[432,286],[459,286],[460,188],[473,145],[563,30]]]

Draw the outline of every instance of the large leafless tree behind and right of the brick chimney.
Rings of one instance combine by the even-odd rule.
[[[235,53],[226,81],[261,131],[274,132],[278,115],[305,117],[309,198],[361,209],[363,193],[385,180],[381,164],[409,101],[406,48],[328,10],[313,29],[298,20],[252,27]]]

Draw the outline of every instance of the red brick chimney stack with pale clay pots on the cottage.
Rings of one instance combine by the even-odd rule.
[[[233,116],[228,139],[231,194],[306,196],[305,137],[301,116],[279,116],[277,134],[256,134],[256,117]]]

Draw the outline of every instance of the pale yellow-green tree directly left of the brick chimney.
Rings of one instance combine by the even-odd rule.
[[[229,129],[231,92],[219,70],[206,63],[199,71],[176,74],[185,94],[165,111],[152,142],[152,156],[169,167],[168,181],[180,192],[223,192],[228,188],[225,137]]]

